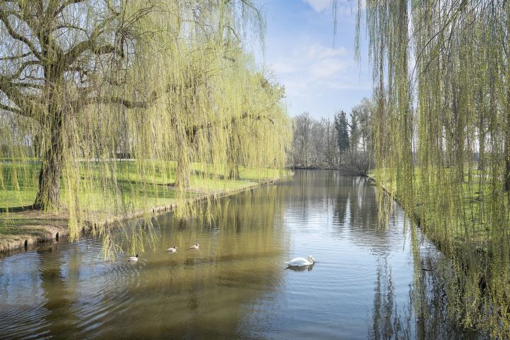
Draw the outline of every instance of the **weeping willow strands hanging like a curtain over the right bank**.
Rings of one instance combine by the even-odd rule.
[[[506,339],[510,2],[367,0],[363,21],[378,183],[451,259],[450,316]]]

